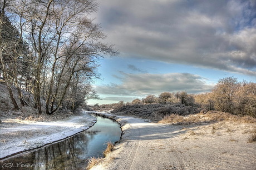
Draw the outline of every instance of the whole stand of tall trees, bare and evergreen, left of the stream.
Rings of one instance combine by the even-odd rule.
[[[0,78],[14,109],[31,99],[38,113],[53,114],[98,98],[91,82],[100,76],[99,61],[118,52],[102,43],[105,34],[88,17],[97,7],[95,0],[1,0]]]

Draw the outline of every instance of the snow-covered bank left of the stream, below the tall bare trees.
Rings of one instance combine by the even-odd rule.
[[[90,128],[96,121],[86,112],[55,122],[8,123],[8,120],[2,120],[0,159],[73,136]]]

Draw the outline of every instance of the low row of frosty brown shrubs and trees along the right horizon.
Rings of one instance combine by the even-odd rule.
[[[155,104],[155,106],[154,106]],[[149,105],[150,107],[144,107]],[[220,79],[213,90],[208,93],[188,94],[183,92],[163,92],[159,96],[149,94],[145,98],[134,99],[131,103],[120,101],[111,104],[114,112],[130,114],[147,114],[154,117],[166,114],[194,114],[196,112],[221,111],[240,116],[256,117],[256,83],[238,82],[237,78],[227,77]],[[108,108],[106,104],[98,109]]]

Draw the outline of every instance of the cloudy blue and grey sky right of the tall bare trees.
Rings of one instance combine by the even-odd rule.
[[[95,21],[118,57],[100,61],[101,100],[210,92],[221,78],[256,82],[256,0],[98,0]]]

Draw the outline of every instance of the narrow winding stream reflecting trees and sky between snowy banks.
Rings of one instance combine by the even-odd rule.
[[[106,142],[119,141],[121,128],[111,119],[95,116],[97,123],[64,141],[0,161],[0,169],[85,169],[91,157],[103,157]]]

